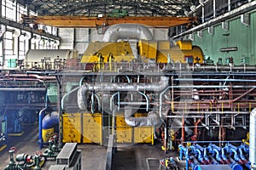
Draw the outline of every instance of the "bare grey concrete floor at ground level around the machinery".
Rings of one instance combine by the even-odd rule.
[[[21,137],[9,137],[8,146],[0,152],[0,169],[4,169],[9,163],[9,148],[15,146],[17,153],[26,153],[33,156],[38,147],[38,125],[26,127],[25,133]],[[46,148],[43,148],[44,151]],[[82,150],[82,169],[83,170],[103,170],[106,163],[106,146],[98,144],[79,144],[78,149]],[[15,155],[16,155],[15,154]],[[171,154],[172,155],[172,154]],[[116,153],[113,155],[113,170],[151,170],[158,165],[155,162],[166,156],[164,151],[160,150],[160,144],[119,144]],[[155,158],[155,159],[154,159]],[[147,161],[154,161],[153,168],[148,167]],[[55,161],[46,161],[43,169],[49,169]],[[152,163],[151,163],[152,164]]]

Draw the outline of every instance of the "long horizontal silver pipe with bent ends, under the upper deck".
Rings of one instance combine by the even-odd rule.
[[[168,87],[169,77],[160,77],[160,82],[154,83],[144,83],[144,82],[132,82],[132,83],[119,83],[119,82],[106,82],[106,83],[98,83],[91,84],[85,83],[80,86],[78,90],[78,105],[80,110],[86,110],[87,108],[87,99],[86,94],[88,91],[94,92],[137,92],[137,91],[153,91],[160,92],[163,91],[166,87]]]

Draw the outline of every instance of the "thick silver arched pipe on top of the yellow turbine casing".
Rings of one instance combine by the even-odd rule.
[[[146,26],[138,24],[116,24],[109,26],[103,42],[117,42],[119,39],[152,40],[153,36]]]

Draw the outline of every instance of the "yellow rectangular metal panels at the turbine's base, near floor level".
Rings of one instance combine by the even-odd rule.
[[[143,116],[143,114],[135,114]],[[116,119],[116,142],[154,144],[154,127],[131,127],[120,114]],[[66,113],[62,116],[64,143],[102,144],[102,114]]]

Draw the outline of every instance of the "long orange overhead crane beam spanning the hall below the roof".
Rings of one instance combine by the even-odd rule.
[[[196,17],[88,17],[88,16],[22,16],[25,24],[43,24],[55,27],[97,27],[115,24],[142,24],[153,27],[181,26],[196,22]]]

